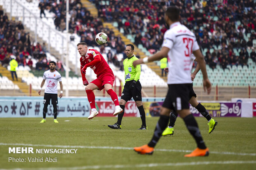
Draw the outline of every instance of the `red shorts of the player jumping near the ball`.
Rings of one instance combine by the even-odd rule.
[[[104,85],[105,84],[111,84],[113,86],[115,81],[115,76],[113,74],[113,72],[106,72],[106,73],[102,73],[100,74],[97,79],[93,80],[91,83],[97,85],[97,87],[99,87],[99,90],[104,89]]]

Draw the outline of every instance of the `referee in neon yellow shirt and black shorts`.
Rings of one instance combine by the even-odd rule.
[[[142,121],[142,125],[138,130],[146,130],[146,117],[145,117],[145,110],[142,106],[142,97],[141,97],[141,84],[140,84],[140,64],[136,67],[133,67],[133,61],[138,60],[137,57],[133,55],[134,53],[134,46],[133,44],[126,45],[126,55],[127,58],[123,60],[123,68],[125,72],[125,85],[123,88],[123,92],[121,95],[121,100],[119,102],[120,107],[123,109],[123,113],[118,115],[117,122],[113,125],[108,125],[111,129],[121,129],[121,122],[124,114],[124,108],[130,99],[135,101],[137,108],[140,111],[140,118]]]

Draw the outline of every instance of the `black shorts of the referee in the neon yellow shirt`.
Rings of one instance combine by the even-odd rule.
[[[133,83],[133,80],[127,81],[126,84],[124,85],[121,99],[127,102],[133,97],[134,101],[142,101],[142,96],[141,96],[142,87],[141,87],[140,81],[137,80],[137,83],[135,84],[135,88],[133,90],[129,90],[129,86],[131,83]]]

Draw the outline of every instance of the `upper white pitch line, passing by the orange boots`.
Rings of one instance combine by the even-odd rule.
[[[122,149],[122,150],[133,150],[132,147],[109,147],[109,146],[34,145],[34,144],[24,144],[24,143],[0,143],[0,145],[21,145],[21,146],[33,146],[33,147],[63,147],[63,148],[86,148],[86,149]],[[178,149],[155,149],[155,151],[186,152],[186,153],[192,152],[191,150],[178,150]],[[256,156],[256,153],[235,153],[235,152],[214,152],[214,151],[210,151],[210,154]]]

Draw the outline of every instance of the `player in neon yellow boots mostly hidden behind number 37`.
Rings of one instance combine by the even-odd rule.
[[[194,60],[195,60],[195,57],[194,57],[194,55],[192,55],[192,62],[190,64],[190,70],[192,70]],[[197,61],[197,60],[195,60],[195,61]],[[164,70],[166,71],[166,73],[169,72],[168,67],[166,67]],[[197,64],[196,69],[191,74],[191,80],[192,81],[194,81],[194,78],[196,77],[199,70],[200,70],[199,64]],[[203,105],[201,105],[201,103],[198,103],[198,101],[196,99],[197,94],[195,94],[194,89],[193,89],[193,83],[190,84],[190,93],[189,94],[190,94],[189,103],[191,104],[191,106],[196,108],[199,111],[199,113],[201,113],[202,116],[204,116],[207,119],[207,121],[209,122],[208,123],[209,133],[211,133],[215,129],[215,126],[218,124],[218,122],[211,118],[211,116],[207,112],[206,108]],[[174,127],[174,124],[176,122],[177,117],[178,117],[178,113],[175,112],[175,111],[170,114],[170,123],[169,123],[168,127],[163,131],[162,136],[173,135],[174,134],[173,127]]]

